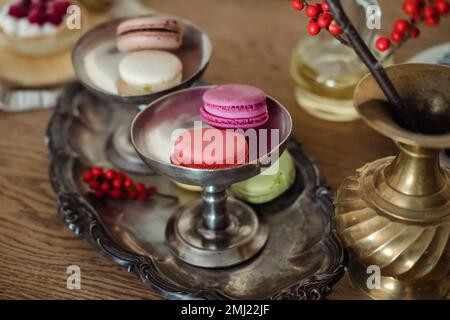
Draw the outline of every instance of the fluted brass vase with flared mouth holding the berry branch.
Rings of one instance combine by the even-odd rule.
[[[439,299],[450,289],[450,170],[439,163],[450,147],[450,68],[386,71],[421,133],[398,124],[371,75],[361,80],[359,114],[400,152],[345,179],[336,198],[338,232],[352,254],[351,280],[371,298]]]

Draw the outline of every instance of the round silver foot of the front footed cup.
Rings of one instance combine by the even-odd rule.
[[[268,238],[265,222],[246,204],[226,201],[229,224],[223,230],[203,225],[202,200],[170,218],[166,238],[177,258],[198,267],[229,267],[252,258],[264,247]]]

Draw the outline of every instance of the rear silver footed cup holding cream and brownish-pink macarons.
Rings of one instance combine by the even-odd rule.
[[[172,51],[183,63],[182,82],[170,89],[145,95],[122,95],[117,89],[118,65],[125,53],[116,46],[116,28],[124,18],[112,20],[83,35],[72,51],[72,63],[78,80],[89,91],[117,108],[129,110],[129,118],[116,128],[105,146],[108,160],[114,166],[133,173],[149,169],[136,154],[130,141],[130,125],[137,111],[150,102],[200,80],[212,54],[208,35],[190,22],[176,18],[184,27],[183,45]]]

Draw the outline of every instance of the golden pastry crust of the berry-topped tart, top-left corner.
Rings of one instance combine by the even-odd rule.
[[[78,2],[73,0],[71,3],[78,5]],[[5,5],[8,4],[6,3]],[[54,33],[31,37],[9,35],[0,27],[0,47],[2,50],[5,49],[22,56],[33,58],[56,55],[68,51],[73,47],[82,35],[84,25],[85,23],[79,29],[68,29],[66,19],[64,19]]]

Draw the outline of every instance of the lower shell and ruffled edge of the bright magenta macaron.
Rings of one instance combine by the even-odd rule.
[[[258,128],[269,120],[269,113],[251,118],[224,118],[208,113],[203,107],[200,108],[200,116],[207,124],[223,129],[250,129]]]

